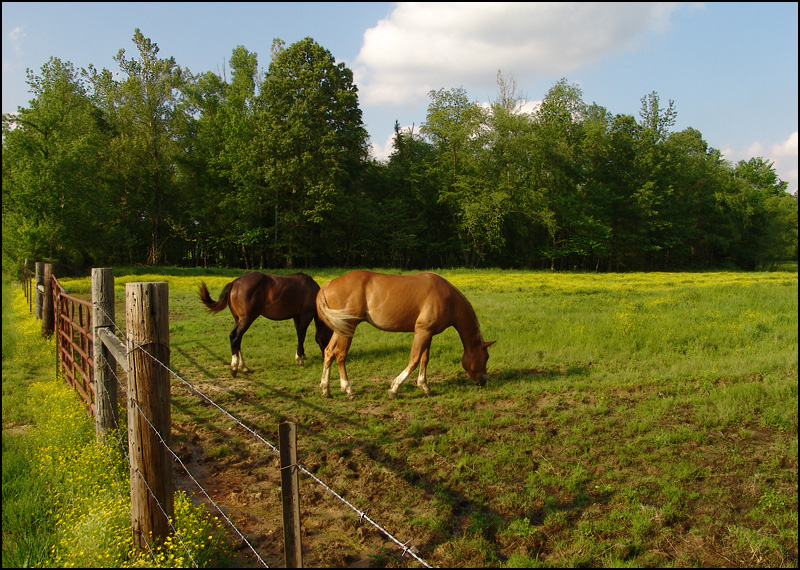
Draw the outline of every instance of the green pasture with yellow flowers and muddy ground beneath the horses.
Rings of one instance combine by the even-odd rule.
[[[320,284],[344,272],[308,271]],[[171,368],[273,442],[297,423],[300,462],[428,564],[797,566],[796,270],[441,271],[497,341],[487,385],[467,378],[449,329],[431,348],[431,396],[412,377],[390,400],[411,335],[362,324],[353,401],[320,397],[313,325],[300,368],[291,323],[259,319],[242,343],[253,371],[231,378],[233,320],[208,314],[196,286],[216,298],[240,272],[114,273],[119,321],[125,282],[168,281]],[[61,282],[88,293],[88,278]],[[173,422],[179,455],[280,566],[271,452],[178,380]],[[301,485],[307,565],[419,565]]]

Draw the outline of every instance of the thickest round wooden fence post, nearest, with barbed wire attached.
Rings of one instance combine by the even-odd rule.
[[[128,342],[128,447],[133,543],[146,548],[169,534],[175,483],[170,443],[169,286],[125,286]],[[163,442],[162,442],[163,440]]]

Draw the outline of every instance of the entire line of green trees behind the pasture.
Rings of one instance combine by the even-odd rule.
[[[193,74],[136,30],[119,72],[52,57],[3,115],[3,262],[597,271],[797,260],[797,194],[731,164],[673,101],[612,114],[557,82],[523,112],[431,91],[417,132],[370,157],[353,74],[306,38],[268,70],[233,50]],[[230,77],[228,77],[230,75]]]

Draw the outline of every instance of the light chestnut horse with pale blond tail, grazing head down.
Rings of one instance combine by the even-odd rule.
[[[367,321],[384,331],[413,332],[408,366],[392,382],[389,397],[394,398],[400,385],[419,366],[417,386],[429,394],[427,367],[431,339],[448,327],[454,327],[464,345],[461,365],[478,386],[486,383],[487,347],[478,326],[478,318],[467,298],[446,279],[435,273],[385,275],[370,271],[351,271],[329,281],[317,295],[317,312],[333,329],[333,337],[323,357],[323,397],[330,396],[331,363],[336,358],[339,385],[348,398],[353,388],[347,379],[345,360],[356,326]]]

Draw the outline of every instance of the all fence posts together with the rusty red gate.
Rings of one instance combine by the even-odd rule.
[[[163,540],[174,514],[174,479],[169,455],[171,396],[169,370],[169,290],[165,282],[125,286],[125,342],[114,333],[114,276],[92,269],[92,300],[67,294],[50,264],[36,263],[37,318],[42,334],[56,333],[56,365],[95,416],[98,438],[117,422],[115,366],[127,373],[128,456],[131,529],[134,544]],[[24,280],[30,281],[25,271]],[[29,291],[25,289],[26,293]],[[30,304],[30,299],[29,299]],[[280,426],[285,560],[302,567],[296,432]]]

